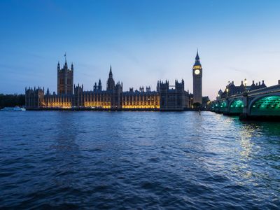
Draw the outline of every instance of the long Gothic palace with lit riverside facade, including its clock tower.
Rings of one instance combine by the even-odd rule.
[[[157,90],[140,87],[139,90],[123,91],[123,83],[115,83],[110,66],[106,90],[102,82],[95,83],[93,90],[83,90],[83,85],[73,84],[73,64],[69,69],[65,59],[64,66],[57,64],[57,93],[45,92],[41,87],[25,88],[25,105],[27,109],[97,109],[97,110],[186,110],[199,103],[205,106],[208,97],[202,97],[202,65],[200,57],[195,57],[193,66],[193,94],[184,89],[184,80],[158,80]]]

